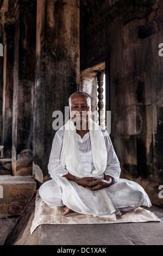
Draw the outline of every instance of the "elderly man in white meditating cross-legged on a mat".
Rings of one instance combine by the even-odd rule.
[[[145,190],[120,178],[120,163],[108,132],[90,118],[91,97],[75,92],[69,98],[70,120],[54,136],[40,197],[51,206],[116,219],[121,211],[151,206]]]

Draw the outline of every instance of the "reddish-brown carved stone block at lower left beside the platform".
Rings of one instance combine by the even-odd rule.
[[[36,190],[32,176],[0,176],[0,218],[21,215]]]

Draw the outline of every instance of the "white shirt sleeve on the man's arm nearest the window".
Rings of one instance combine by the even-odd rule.
[[[114,180],[117,180],[121,174],[120,162],[116,156],[114,147],[112,146],[112,142],[110,140],[110,136],[106,130],[104,132],[104,140],[107,150],[107,166],[104,174],[113,177]]]

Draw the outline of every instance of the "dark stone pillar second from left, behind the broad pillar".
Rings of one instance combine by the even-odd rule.
[[[32,175],[36,1],[20,1],[15,21],[12,172]]]

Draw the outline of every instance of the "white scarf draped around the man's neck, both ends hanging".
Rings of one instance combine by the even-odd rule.
[[[92,148],[92,159],[95,166],[95,170],[92,171],[91,175],[98,177],[102,175],[106,169],[106,145],[102,131],[98,124],[90,118],[88,125]],[[74,126],[74,122],[71,119],[65,124],[64,139],[61,151],[61,165],[73,176],[78,178],[83,177],[80,166],[76,126]]]

